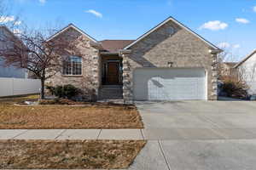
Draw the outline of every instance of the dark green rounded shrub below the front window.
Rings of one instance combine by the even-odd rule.
[[[52,92],[52,94],[54,94],[55,96],[64,99],[72,99],[74,96],[79,94],[79,88],[75,88],[71,84],[52,87],[49,88],[49,91]]]

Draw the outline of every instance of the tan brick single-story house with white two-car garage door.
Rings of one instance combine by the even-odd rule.
[[[217,99],[221,50],[172,17],[137,40],[96,41],[70,24],[48,41],[65,35],[80,41],[79,55],[49,85],[73,84],[84,99]]]

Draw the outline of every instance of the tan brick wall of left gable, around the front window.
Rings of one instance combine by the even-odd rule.
[[[64,34],[64,35],[63,35]],[[46,81],[46,84],[51,86],[73,84],[76,88],[80,88],[82,94],[81,99],[84,100],[96,100],[98,95],[98,88],[100,85],[100,60],[99,51],[96,48],[91,47],[90,38],[85,37],[79,31],[69,28],[59,36],[66,36],[71,38],[71,42],[76,41],[76,47],[78,48],[73,55],[82,57],[82,75],[81,76],[65,76],[62,75],[61,70]]]

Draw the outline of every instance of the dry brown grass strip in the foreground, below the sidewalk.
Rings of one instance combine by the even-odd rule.
[[[142,140],[2,140],[0,168],[127,168],[144,144]]]

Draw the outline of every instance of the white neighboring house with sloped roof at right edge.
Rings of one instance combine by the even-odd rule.
[[[242,59],[235,68],[249,86],[248,94],[256,94],[256,50]]]

